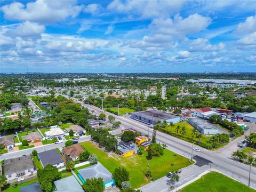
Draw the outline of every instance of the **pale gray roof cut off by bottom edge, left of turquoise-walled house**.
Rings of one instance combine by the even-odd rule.
[[[54,185],[57,188],[56,191],[61,191],[61,192],[69,192],[69,191],[83,192],[84,191],[81,185],[79,185],[74,175],[54,181]]]

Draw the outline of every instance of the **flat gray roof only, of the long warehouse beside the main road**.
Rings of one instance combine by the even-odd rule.
[[[167,114],[167,113],[164,113],[164,112],[161,112],[161,111],[156,111],[156,110],[137,111],[137,112],[134,112],[132,114],[140,116],[142,118],[152,119],[153,121],[164,121],[164,120],[179,117],[179,116],[176,116],[176,115]]]

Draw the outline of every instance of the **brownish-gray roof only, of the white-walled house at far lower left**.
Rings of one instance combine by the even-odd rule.
[[[30,156],[22,156],[17,158],[6,159],[4,161],[5,175],[12,173],[21,173],[35,166]]]

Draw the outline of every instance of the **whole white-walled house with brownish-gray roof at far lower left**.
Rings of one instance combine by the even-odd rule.
[[[30,156],[6,159],[4,161],[4,173],[7,181],[21,181],[36,175],[36,168]]]

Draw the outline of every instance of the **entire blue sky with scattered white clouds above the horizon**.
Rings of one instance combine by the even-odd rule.
[[[253,1],[1,1],[0,72],[256,72]]]

